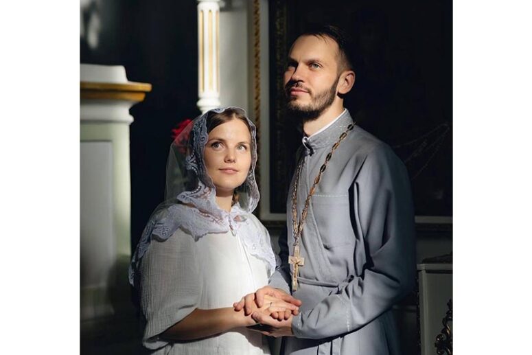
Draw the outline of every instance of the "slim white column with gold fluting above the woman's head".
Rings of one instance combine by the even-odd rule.
[[[198,108],[220,106],[220,0],[198,0]]]

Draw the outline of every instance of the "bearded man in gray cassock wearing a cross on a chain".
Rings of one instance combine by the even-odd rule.
[[[284,354],[400,352],[391,308],[415,282],[410,183],[391,148],[344,108],[353,69],[336,27],[302,34],[290,49],[288,112],[301,119],[304,137],[288,236],[279,240],[281,265],[269,286],[235,306],[262,306],[264,295],[301,300],[297,315],[253,314],[263,334],[286,336]]]

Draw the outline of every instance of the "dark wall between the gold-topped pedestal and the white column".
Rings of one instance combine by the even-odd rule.
[[[172,128],[200,113],[196,5],[194,0],[115,0],[82,8],[81,25],[89,27],[97,16],[100,31],[95,48],[80,37],[81,62],[124,65],[128,80],[152,84],[146,100],[130,110],[135,118],[130,126],[132,245],[163,200]]]

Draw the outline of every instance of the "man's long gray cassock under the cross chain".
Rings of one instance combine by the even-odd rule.
[[[299,149],[298,219],[325,156],[351,122],[346,110],[310,137],[312,150]],[[288,293],[294,179],[288,243],[281,235],[281,265],[270,279],[270,286]],[[415,284],[415,222],[406,168],[389,146],[358,126],[351,130],[312,196],[300,245],[305,266],[292,295],[303,305],[284,354],[400,354],[391,307]]]

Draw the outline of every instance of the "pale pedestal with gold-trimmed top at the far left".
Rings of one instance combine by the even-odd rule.
[[[130,260],[129,108],[150,84],[129,82],[122,66],[80,70],[80,319],[82,343],[135,328]]]

